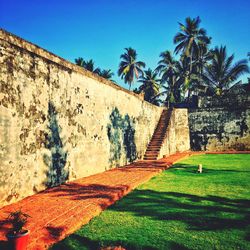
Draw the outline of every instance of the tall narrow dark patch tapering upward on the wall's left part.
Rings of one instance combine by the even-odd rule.
[[[69,171],[65,169],[68,152],[60,137],[60,127],[57,121],[57,111],[52,102],[48,105],[48,129],[50,133],[46,138],[45,147],[50,150],[51,155],[44,155],[44,162],[49,167],[47,172],[47,187],[53,187],[68,179]]]

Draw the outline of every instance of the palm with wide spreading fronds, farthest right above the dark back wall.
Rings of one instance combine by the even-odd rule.
[[[212,50],[211,64],[205,68],[204,79],[212,85],[216,95],[223,95],[244,73],[249,72],[247,60],[240,60],[234,65],[234,55],[227,56],[226,46]]]

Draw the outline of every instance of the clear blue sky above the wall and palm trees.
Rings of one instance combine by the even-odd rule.
[[[2,28],[71,62],[94,59],[121,86],[124,48],[154,69],[187,16],[200,16],[212,46],[226,45],[236,60],[250,52],[249,0],[0,0],[0,11]]]

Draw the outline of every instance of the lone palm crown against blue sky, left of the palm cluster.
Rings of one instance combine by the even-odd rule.
[[[142,68],[146,65],[142,61],[136,61],[137,53],[134,49],[125,48],[125,50],[126,52],[120,56],[122,61],[119,64],[118,76],[121,76],[125,83],[129,84],[130,89],[134,79],[143,75]]]

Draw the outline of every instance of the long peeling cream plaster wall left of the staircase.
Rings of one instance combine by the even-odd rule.
[[[0,206],[141,159],[162,109],[0,30]]]

